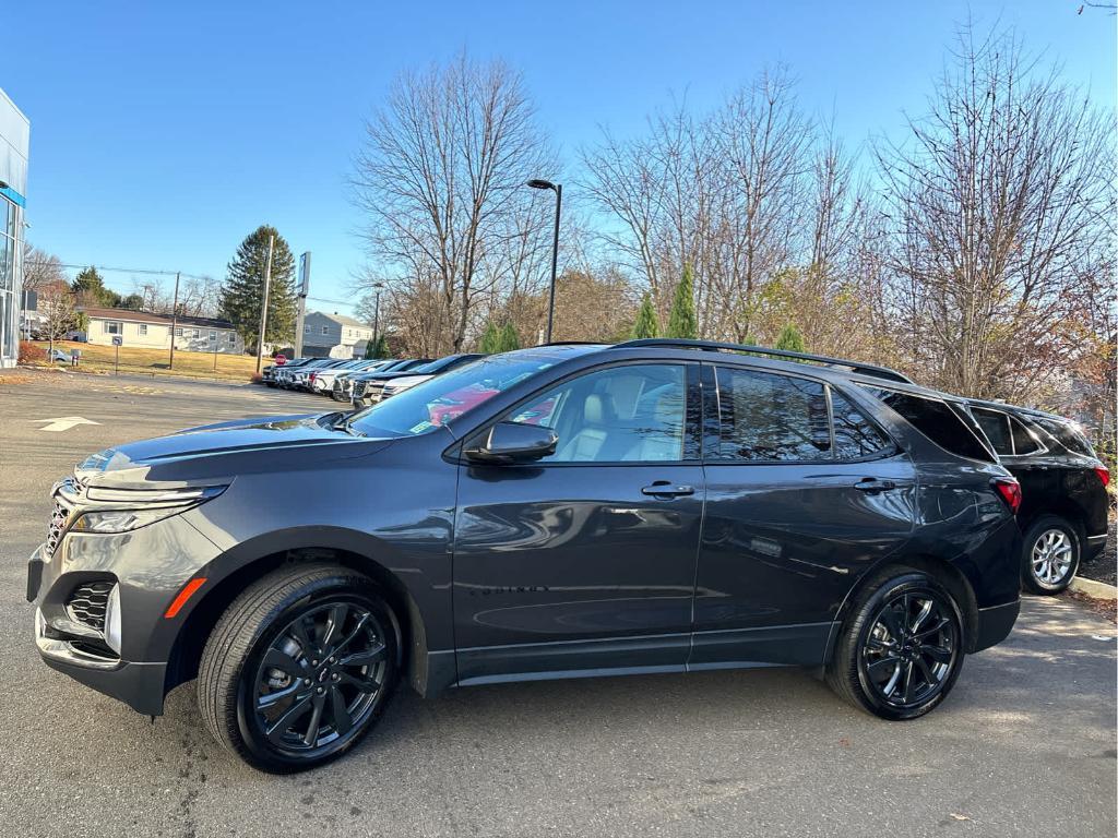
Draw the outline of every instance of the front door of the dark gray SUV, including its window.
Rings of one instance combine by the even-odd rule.
[[[683,669],[703,506],[698,369],[580,373],[498,417],[555,430],[553,455],[459,466],[459,683]]]

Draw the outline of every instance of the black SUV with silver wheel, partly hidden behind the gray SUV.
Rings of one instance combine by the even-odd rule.
[[[1106,546],[1110,473],[1069,419],[1002,402],[969,403],[1002,465],[1021,484],[1022,584],[1034,593],[1059,593],[1080,561]]]

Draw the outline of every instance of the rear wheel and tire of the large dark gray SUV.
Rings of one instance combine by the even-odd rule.
[[[923,613],[926,602],[931,607]],[[918,718],[951,692],[965,649],[961,612],[951,593],[929,573],[890,568],[843,621],[826,682],[866,713],[889,721]]]

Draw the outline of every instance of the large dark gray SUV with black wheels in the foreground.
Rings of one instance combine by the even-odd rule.
[[[953,397],[724,347],[540,346],[96,454],[29,564],[39,651],[151,715],[197,677],[276,772],[350,749],[398,677],[800,665],[927,713],[1017,617],[1016,480]]]

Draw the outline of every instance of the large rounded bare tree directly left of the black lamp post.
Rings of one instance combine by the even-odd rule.
[[[367,123],[352,183],[369,255],[396,277],[394,308],[437,306],[420,317],[438,325],[437,351],[462,347],[475,304],[510,275],[501,261],[519,264],[524,219],[542,238],[523,185],[555,168],[520,75],[501,63],[463,55],[405,74]]]

